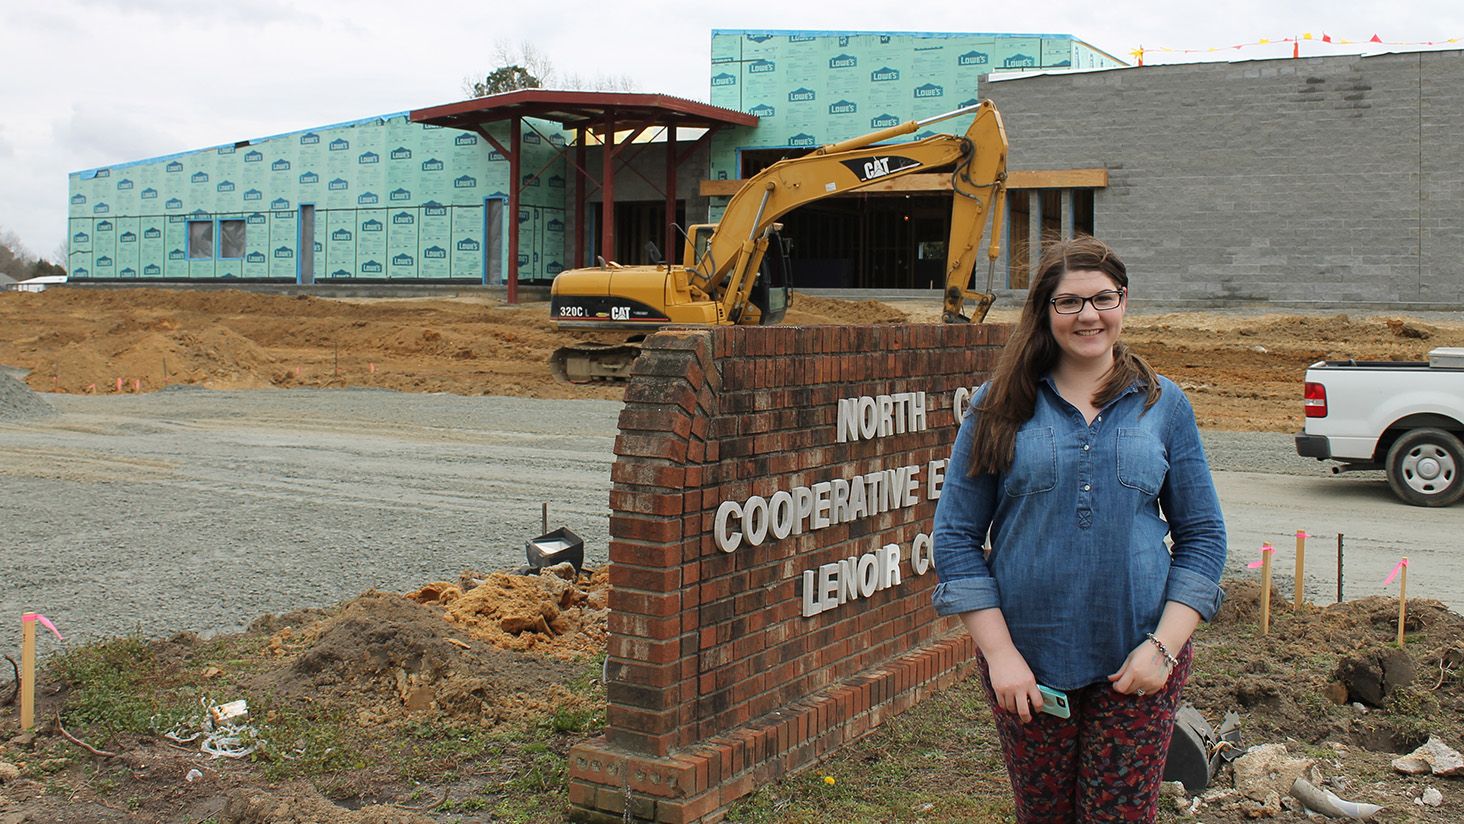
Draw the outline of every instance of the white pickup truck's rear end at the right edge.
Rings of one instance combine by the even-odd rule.
[[[1414,506],[1454,503],[1464,496],[1464,348],[1420,363],[1313,363],[1296,452],[1340,461],[1334,473],[1386,470]]]

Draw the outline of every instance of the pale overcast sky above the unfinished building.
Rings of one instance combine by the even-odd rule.
[[[1193,6],[1195,10],[1186,10]],[[1464,38],[1457,1],[0,0],[0,230],[53,258],[67,173],[461,100],[495,44],[561,75],[707,100],[712,29],[1072,34],[1132,61],[1315,38]],[[1303,44],[1303,54],[1360,47]],[[1404,47],[1395,47],[1404,48]],[[1221,57],[1290,56],[1290,45]],[[1215,56],[1208,56],[1214,59]]]

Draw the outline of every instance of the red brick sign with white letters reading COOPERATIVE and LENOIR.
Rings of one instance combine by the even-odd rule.
[[[1004,326],[731,326],[651,337],[610,492],[603,738],[578,820],[716,820],[950,685],[930,606],[957,413]]]

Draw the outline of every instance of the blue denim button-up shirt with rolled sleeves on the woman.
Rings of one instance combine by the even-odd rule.
[[[1038,683],[1057,689],[1118,672],[1165,602],[1209,621],[1224,599],[1225,524],[1184,392],[1159,378],[1145,411],[1135,383],[1089,424],[1044,378],[1012,467],[969,477],[985,389],[935,506],[935,612],[1000,607]]]

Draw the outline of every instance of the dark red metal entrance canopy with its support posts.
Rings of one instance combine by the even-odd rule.
[[[646,129],[666,129],[666,252],[675,249],[676,220],[676,167],[684,164],[697,148],[712,139],[712,135],[726,126],[757,126],[757,117],[731,108],[697,102],[672,95],[640,92],[577,92],[553,89],[518,89],[498,95],[449,102],[410,113],[413,123],[429,123],[448,129],[463,129],[482,135],[499,154],[508,160],[508,214],[514,215],[508,233],[508,301],[518,301],[518,196],[524,184],[521,165],[523,119],[552,120],[577,132],[575,155],[571,161],[577,170],[574,198],[575,240],[574,265],[584,266],[584,206],[591,181],[586,170],[586,138],[597,135],[603,145],[600,171],[602,220],[600,252],[608,258],[615,250],[615,158],[631,145]],[[509,120],[509,145],[505,148],[488,133],[489,123]],[[530,124],[531,126],[531,124]],[[682,152],[676,152],[676,127],[706,129],[707,132]],[[619,145],[616,132],[630,130],[631,136]],[[567,152],[561,149],[562,152]],[[534,171],[531,177],[537,177]],[[632,168],[634,171],[634,168]],[[647,180],[647,183],[650,183]],[[656,187],[654,183],[650,183]]]

